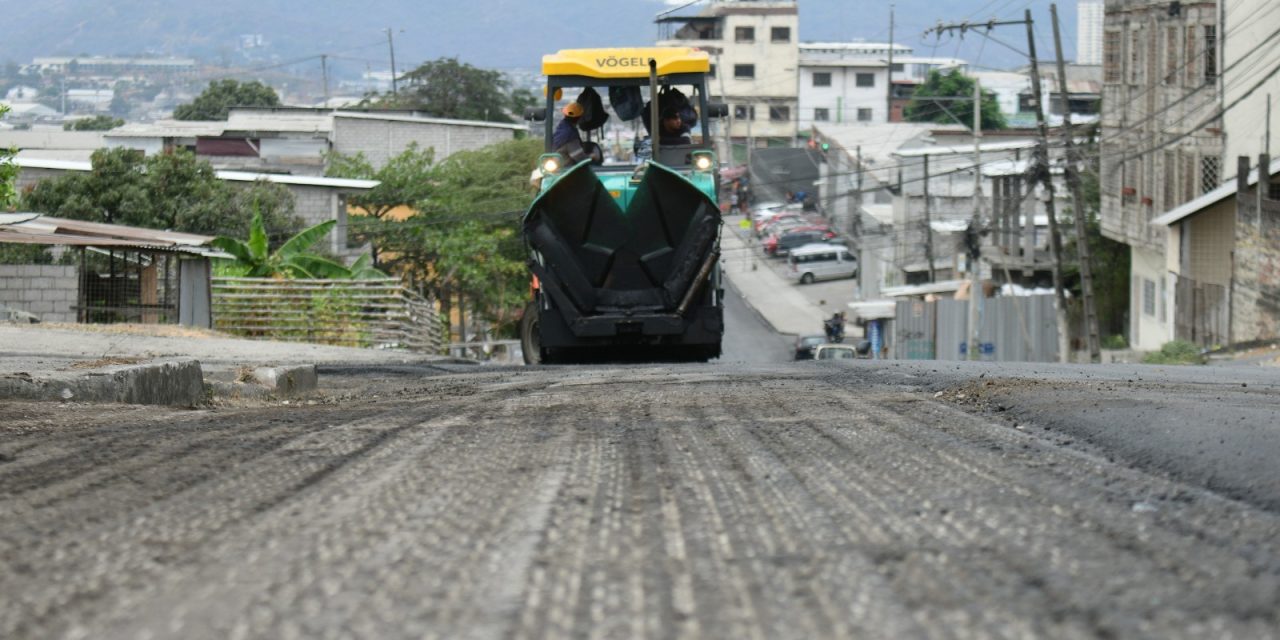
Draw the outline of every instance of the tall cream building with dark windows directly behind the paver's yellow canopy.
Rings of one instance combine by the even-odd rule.
[[[756,146],[791,143],[799,122],[796,3],[717,0],[698,15],[663,15],[660,46],[712,54],[708,91],[730,105],[730,136]]]

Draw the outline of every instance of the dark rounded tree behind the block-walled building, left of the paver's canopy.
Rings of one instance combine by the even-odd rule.
[[[422,63],[406,73],[398,95],[385,93],[371,101],[387,109],[413,109],[435,118],[512,122],[512,96],[502,73],[480,69],[457,58]]]

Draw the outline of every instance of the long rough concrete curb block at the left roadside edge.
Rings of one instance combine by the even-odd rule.
[[[120,402],[195,407],[205,402],[205,378],[195,358],[110,366],[47,378],[0,376],[0,398],[68,402]]]

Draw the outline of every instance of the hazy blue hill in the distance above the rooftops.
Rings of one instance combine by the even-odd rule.
[[[888,8],[883,0],[801,0],[804,40],[883,40]],[[991,5],[983,0],[897,0],[899,42],[919,55],[978,58],[991,67],[1020,59],[969,35],[964,42],[922,40],[940,19],[959,20]],[[1048,3],[1032,4],[1039,33],[1047,36]],[[1075,50],[1075,6],[1061,3],[1068,55]],[[333,54],[335,63],[378,68],[387,60],[385,36],[393,27],[398,64],[408,68],[442,55],[483,67],[535,67],[541,54],[563,47],[649,44],[659,0],[38,0],[5,3],[0,20],[0,63],[37,55],[193,55],[243,61],[241,36],[257,33],[270,45],[259,51],[288,60]],[[1007,15],[1006,15],[1007,17]],[[978,15],[988,18],[988,15]],[[404,29],[399,33],[399,29]],[[1007,27],[1009,42],[1020,29]],[[957,46],[959,45],[959,46]],[[1052,51],[1044,42],[1043,51]]]

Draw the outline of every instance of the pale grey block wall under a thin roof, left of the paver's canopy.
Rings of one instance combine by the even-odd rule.
[[[410,143],[434,148],[435,160],[466,150],[486,147],[516,137],[507,127],[467,123],[421,123],[398,120],[366,120],[334,118],[334,151],[344,155],[365,154],[374,166],[402,154]]]

